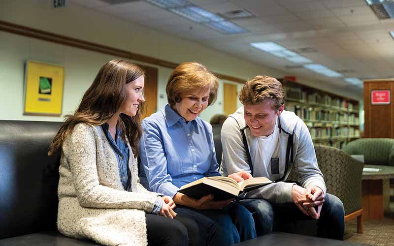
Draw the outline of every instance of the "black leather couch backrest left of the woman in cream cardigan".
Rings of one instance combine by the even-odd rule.
[[[0,239],[56,229],[61,122],[0,121]]]

